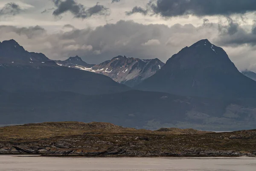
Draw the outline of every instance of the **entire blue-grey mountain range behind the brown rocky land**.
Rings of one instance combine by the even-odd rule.
[[[256,127],[256,81],[208,40],[185,47],[165,65],[125,56],[98,65],[78,56],[53,61],[14,40],[3,41],[0,79],[0,125],[96,121],[147,129]]]

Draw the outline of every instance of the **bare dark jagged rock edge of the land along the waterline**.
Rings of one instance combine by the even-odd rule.
[[[44,157],[256,157],[254,152],[241,151],[219,151],[219,150],[192,150],[180,152],[141,152],[132,151],[129,148],[117,148],[100,151],[81,151],[77,148],[38,148],[28,146],[5,146],[0,148],[0,155],[19,155],[19,154],[34,154]]]

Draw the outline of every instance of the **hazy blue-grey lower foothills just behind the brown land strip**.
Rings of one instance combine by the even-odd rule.
[[[256,100],[248,101],[183,97],[135,90],[94,96],[31,90],[3,92],[0,93],[0,125],[96,121],[146,129],[252,129],[256,127]]]

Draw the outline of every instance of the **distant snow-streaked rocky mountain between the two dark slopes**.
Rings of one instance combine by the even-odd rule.
[[[106,75],[114,81],[130,87],[133,87],[146,78],[151,77],[164,65],[164,63],[157,58],[142,60],[138,58],[127,58],[125,56],[117,56],[110,61],[105,61],[98,65],[87,64],[78,56],[73,58],[70,57],[65,61],[55,62],[64,67],[71,67]]]

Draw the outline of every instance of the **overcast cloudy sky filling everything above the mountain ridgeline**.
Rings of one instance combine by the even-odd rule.
[[[166,62],[209,39],[256,71],[256,0],[0,0],[0,41],[98,64],[117,55]]]

